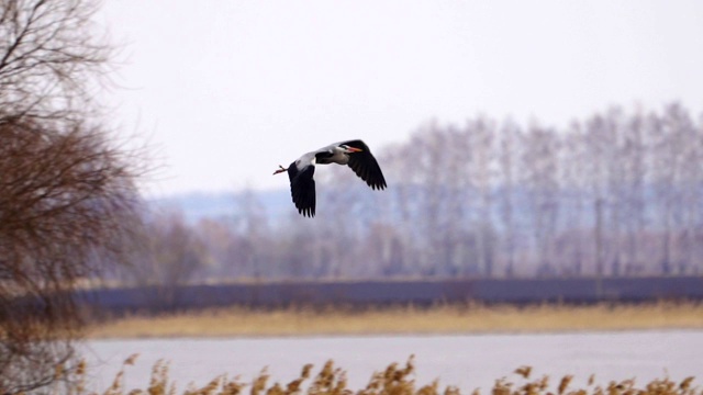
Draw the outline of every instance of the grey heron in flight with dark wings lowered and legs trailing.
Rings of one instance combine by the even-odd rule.
[[[348,165],[352,170],[373,190],[386,189],[386,179],[371,155],[369,147],[360,139],[331,144],[304,154],[288,168],[279,165],[274,174],[288,171],[290,194],[295,208],[303,216],[315,216],[315,165]]]

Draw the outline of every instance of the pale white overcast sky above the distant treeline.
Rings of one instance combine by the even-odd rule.
[[[288,188],[279,163],[432,119],[703,112],[696,0],[119,0],[98,21],[122,47],[112,122],[154,147],[152,196]]]

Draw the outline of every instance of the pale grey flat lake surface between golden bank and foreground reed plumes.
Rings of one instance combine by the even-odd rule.
[[[539,335],[382,336],[319,338],[143,339],[93,340],[85,356],[91,369],[92,388],[107,388],[131,354],[137,363],[125,370],[129,390],[146,388],[154,363],[170,362],[170,377],[183,391],[189,383],[205,385],[226,373],[250,380],[264,366],[269,384],[286,384],[305,363],[313,373],[332,359],[347,372],[350,390],[364,387],[375,371],[389,363],[404,364],[415,354],[415,379],[420,385],[439,379],[440,387],[457,385],[469,394],[480,387],[489,394],[496,379],[523,382],[513,373],[533,366],[532,379],[548,374],[556,387],[565,374],[571,385],[585,386],[595,374],[596,384],[636,377],[639,385],[668,375],[681,381],[695,375],[703,381],[703,331],[622,331]],[[698,383],[698,384],[696,384]]]

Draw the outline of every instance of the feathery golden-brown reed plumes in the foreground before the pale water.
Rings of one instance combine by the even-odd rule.
[[[137,356],[132,356],[124,361],[120,372],[114,377],[110,387],[102,392],[87,390],[87,373],[85,363],[80,370],[67,373],[65,387],[56,387],[52,394],[68,395],[176,395],[179,393],[176,384],[169,377],[169,365],[159,361],[152,369],[152,379],[146,388],[127,388],[124,384],[125,368],[133,365]],[[292,381],[280,382],[271,380],[267,370],[253,377],[243,381],[239,376],[231,377],[222,374],[212,379],[204,386],[191,384],[183,390],[185,395],[459,395],[462,388],[456,386],[440,387],[438,380],[431,383],[415,383],[415,365],[411,356],[405,364],[391,363],[386,369],[372,374],[364,388],[354,390],[347,386],[346,373],[334,365],[334,361],[327,361],[320,371],[313,375],[313,365],[302,368],[300,376]],[[58,370],[57,370],[58,371]],[[591,375],[585,387],[571,387],[572,375],[565,375],[553,380],[549,375],[532,377],[531,366],[516,369],[510,379],[495,380],[490,390],[491,395],[703,395],[703,390],[694,386],[694,377],[690,376],[681,382],[671,381],[669,377],[652,380],[644,385],[637,385],[634,379],[620,382],[596,383],[596,377]],[[467,388],[464,388],[467,390]],[[479,390],[472,390],[472,395],[481,395]]]

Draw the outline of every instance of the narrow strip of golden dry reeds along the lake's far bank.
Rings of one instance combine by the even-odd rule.
[[[89,326],[90,338],[267,337],[315,335],[539,332],[703,329],[703,304],[451,304],[433,307],[242,307],[159,316],[134,315]]]

